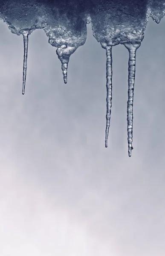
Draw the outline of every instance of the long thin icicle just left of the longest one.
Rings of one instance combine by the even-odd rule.
[[[108,146],[108,134],[109,134],[109,128],[110,128],[110,114],[111,114],[111,106],[112,106],[112,46],[105,47],[106,49],[106,55],[107,55],[107,124],[106,124],[106,130],[105,130],[105,147]]]

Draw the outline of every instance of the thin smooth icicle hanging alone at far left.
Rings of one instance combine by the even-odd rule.
[[[28,35],[29,35],[29,31],[27,31],[27,30],[23,31],[22,35],[23,35],[23,44],[24,44],[22,94],[24,94],[25,93],[25,83],[26,83],[27,52],[28,52]]]

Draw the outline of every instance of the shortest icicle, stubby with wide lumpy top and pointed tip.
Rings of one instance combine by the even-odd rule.
[[[57,48],[56,53],[58,55],[59,60],[61,61],[61,69],[63,72],[63,78],[64,78],[64,83],[67,84],[67,68],[68,68],[68,63],[69,63],[69,58],[70,55],[75,52],[76,47],[70,47],[67,45],[61,45],[60,47]]]

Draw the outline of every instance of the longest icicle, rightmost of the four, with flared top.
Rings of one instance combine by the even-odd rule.
[[[131,157],[133,149],[133,90],[135,83],[135,64],[136,64],[136,50],[141,43],[130,44],[125,43],[124,46],[129,51],[128,61],[128,101],[127,101],[127,134],[128,134],[128,154]]]

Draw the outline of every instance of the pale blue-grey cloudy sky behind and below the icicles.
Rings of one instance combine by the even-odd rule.
[[[133,151],[127,148],[128,50],[113,47],[108,148],[106,54],[87,26],[68,83],[43,30],[0,22],[0,256],[165,255],[165,18],[137,50]]]

